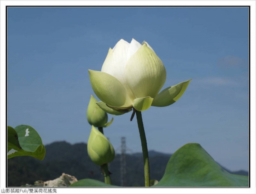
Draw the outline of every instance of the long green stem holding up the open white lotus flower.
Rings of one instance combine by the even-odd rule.
[[[143,161],[144,161],[144,175],[145,175],[145,187],[150,186],[150,174],[149,174],[149,160],[148,160],[148,146],[147,139],[145,135],[145,130],[143,126],[142,116],[140,111],[136,111],[136,117],[140,132],[140,141],[143,153]]]

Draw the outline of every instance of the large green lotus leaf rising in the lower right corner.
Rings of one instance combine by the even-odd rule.
[[[248,187],[248,176],[230,174],[200,144],[178,149],[156,187]]]

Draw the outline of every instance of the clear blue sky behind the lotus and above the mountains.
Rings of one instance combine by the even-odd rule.
[[[146,40],[163,61],[163,89],[192,79],[168,107],[142,112],[148,149],[200,143],[221,165],[248,170],[248,8],[8,8],[8,125],[34,127],[44,144],[87,142],[91,88],[118,40]],[[94,97],[96,97],[94,95]],[[104,133],[118,152],[141,152],[131,112]]]

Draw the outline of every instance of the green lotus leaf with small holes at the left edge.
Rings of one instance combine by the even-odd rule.
[[[45,148],[36,130],[28,125],[19,125],[14,129],[8,126],[8,159],[15,156],[32,156],[43,160]]]

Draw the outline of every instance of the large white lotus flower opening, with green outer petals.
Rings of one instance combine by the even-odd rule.
[[[120,115],[147,110],[152,106],[168,106],[184,93],[190,80],[158,92],[166,80],[164,64],[149,44],[121,39],[108,50],[101,71],[89,70],[92,89],[100,98],[104,111]],[[175,95],[175,96],[174,96]],[[178,98],[177,98],[178,97]],[[174,99],[176,98],[176,99]]]

